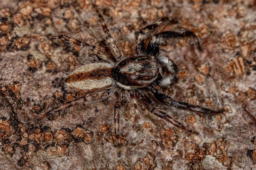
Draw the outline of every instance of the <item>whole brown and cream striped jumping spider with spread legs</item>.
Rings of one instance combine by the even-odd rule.
[[[84,64],[64,77],[66,89],[77,91],[83,94],[83,96],[79,96],[70,102],[66,102],[61,106],[49,110],[34,122],[39,122],[45,117],[56,116],[58,113],[65,112],[68,108],[76,104],[81,104],[82,102],[86,105],[97,103],[107,99],[114,92],[118,92],[119,99],[114,107],[114,129],[116,138],[115,146],[120,147],[122,142],[119,128],[119,113],[120,109],[130,100],[131,94],[137,95],[138,99],[142,101],[142,104],[151,113],[188,132],[193,132],[193,130],[186,128],[183,124],[169,116],[165,111],[154,106],[149,96],[153,95],[159,102],[168,106],[190,110],[196,113],[215,115],[222,112],[222,110],[215,111],[176,101],[154,87],[157,85],[168,86],[177,82],[177,65],[173,60],[168,59],[168,57],[159,55],[159,45],[167,40],[193,38],[200,49],[200,43],[193,31],[163,31],[157,33],[153,35],[145,50],[144,40],[148,38],[150,33],[152,33],[158,26],[168,20],[168,18],[161,18],[139,31],[135,42],[136,55],[125,57],[117,45],[117,42],[111,36],[103,17],[100,14],[99,20],[106,35],[106,43],[110,46],[112,55],[117,62],[114,64],[110,62],[110,58],[97,46],[82,42],[81,40],[77,40],[67,35],[58,36],[58,39],[60,40],[65,40],[72,44],[76,44],[83,49],[87,49],[90,53],[97,56],[100,62]],[[168,68],[168,71],[170,72],[168,76],[163,75],[162,65],[165,65]],[[150,95],[146,92],[150,92]]]

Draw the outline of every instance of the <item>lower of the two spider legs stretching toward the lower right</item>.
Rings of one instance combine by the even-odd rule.
[[[188,132],[193,132],[193,130],[186,128],[183,124],[181,124],[180,122],[174,120],[171,116],[169,116],[166,112],[164,112],[163,110],[160,110],[159,108],[157,108],[156,106],[153,105],[153,103],[151,102],[150,98],[148,97],[148,95],[142,91],[142,90],[138,90],[138,95],[139,95],[139,99],[142,100],[142,103],[144,104],[144,106],[146,106],[146,108],[153,113],[154,115],[167,120],[168,122],[170,122],[171,124],[173,124],[174,126],[177,126],[178,128],[182,128]]]

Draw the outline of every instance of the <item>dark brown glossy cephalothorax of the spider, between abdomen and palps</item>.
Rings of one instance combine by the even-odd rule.
[[[112,70],[117,85],[127,90],[147,86],[157,78],[158,73],[157,59],[150,55],[128,57]]]

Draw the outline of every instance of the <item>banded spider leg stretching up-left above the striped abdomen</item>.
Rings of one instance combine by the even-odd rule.
[[[97,47],[97,46],[94,46],[94,45],[89,44],[87,42],[83,42],[81,40],[77,40],[77,39],[69,37],[67,35],[59,35],[58,39],[65,40],[65,41],[70,42],[72,44],[76,44],[76,45],[80,46],[83,49],[87,49],[90,53],[96,55],[99,60],[105,60],[105,61],[108,60],[108,56],[106,54],[104,54],[101,51],[101,49],[99,49],[99,47]]]

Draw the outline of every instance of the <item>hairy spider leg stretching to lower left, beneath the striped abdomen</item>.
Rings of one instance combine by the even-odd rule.
[[[77,97],[76,99],[70,102],[67,102],[65,104],[62,104],[61,106],[58,106],[56,108],[53,108],[52,110],[49,110],[47,113],[43,114],[38,119],[30,122],[26,126],[31,126],[32,124],[38,123],[43,119],[45,119],[46,117],[50,117],[50,116],[56,117],[58,113],[65,112],[67,111],[68,108],[75,106],[76,104],[81,104],[82,102],[84,102],[86,105],[97,103],[101,100],[106,99],[110,95],[110,93],[111,93],[110,89],[108,89],[104,91],[99,91],[97,93],[87,94],[82,97]]]

